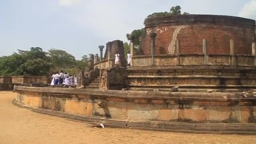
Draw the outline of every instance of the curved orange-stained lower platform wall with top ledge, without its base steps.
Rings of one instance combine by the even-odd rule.
[[[159,122],[256,123],[256,98],[243,98],[237,93],[77,91],[22,86],[17,86],[16,91],[16,100],[23,104],[79,115]]]

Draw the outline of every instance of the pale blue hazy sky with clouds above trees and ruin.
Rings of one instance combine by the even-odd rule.
[[[108,41],[128,41],[147,15],[175,5],[190,14],[256,19],[256,0],[0,0],[0,56],[41,47],[80,59]]]

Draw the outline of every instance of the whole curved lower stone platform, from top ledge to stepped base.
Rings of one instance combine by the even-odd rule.
[[[256,133],[256,97],[238,93],[16,87],[13,104],[112,127]]]

